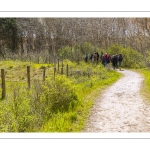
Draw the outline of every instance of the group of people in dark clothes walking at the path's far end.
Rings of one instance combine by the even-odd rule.
[[[121,67],[122,60],[123,60],[122,54],[115,54],[111,56],[107,53],[103,54],[102,52],[101,55],[99,55],[98,52],[95,52],[94,55],[93,54],[90,55],[91,62],[97,64],[99,61],[101,61],[104,67],[111,62],[114,69]],[[88,54],[85,55],[85,62],[88,62]]]

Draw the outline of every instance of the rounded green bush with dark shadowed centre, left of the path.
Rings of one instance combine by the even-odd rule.
[[[72,84],[65,76],[58,75],[55,81],[47,81],[43,85],[42,98],[48,101],[53,112],[68,111],[69,107],[76,106],[78,97]]]

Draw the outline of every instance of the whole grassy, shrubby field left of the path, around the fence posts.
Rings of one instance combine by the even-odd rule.
[[[69,64],[69,77],[66,77]],[[26,66],[31,66],[31,89]],[[122,75],[102,65],[64,61],[64,74],[53,65],[3,61],[6,99],[0,102],[0,132],[80,132],[95,98]],[[43,68],[46,80],[43,82]],[[1,92],[1,89],[0,89]]]

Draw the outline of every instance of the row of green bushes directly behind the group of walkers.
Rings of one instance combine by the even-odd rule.
[[[94,53],[95,51],[99,52],[99,54],[103,51],[104,53],[108,53],[111,56],[115,54],[122,54],[122,67],[137,69],[145,67],[146,64],[149,64],[149,53],[147,53],[147,58],[144,59],[144,56],[138,51],[130,47],[123,47],[122,45],[118,44],[113,44],[107,50],[102,50],[97,47],[94,48],[92,44],[85,42],[80,45],[75,45],[74,47],[66,46],[62,49],[59,49],[58,56],[62,59],[64,58],[79,62],[80,60],[84,60],[85,54],[88,54],[88,56],[90,56],[90,54]]]

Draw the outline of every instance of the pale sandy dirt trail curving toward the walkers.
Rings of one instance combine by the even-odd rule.
[[[150,106],[139,92],[143,78],[121,72],[124,77],[96,99],[83,132],[150,132]]]

